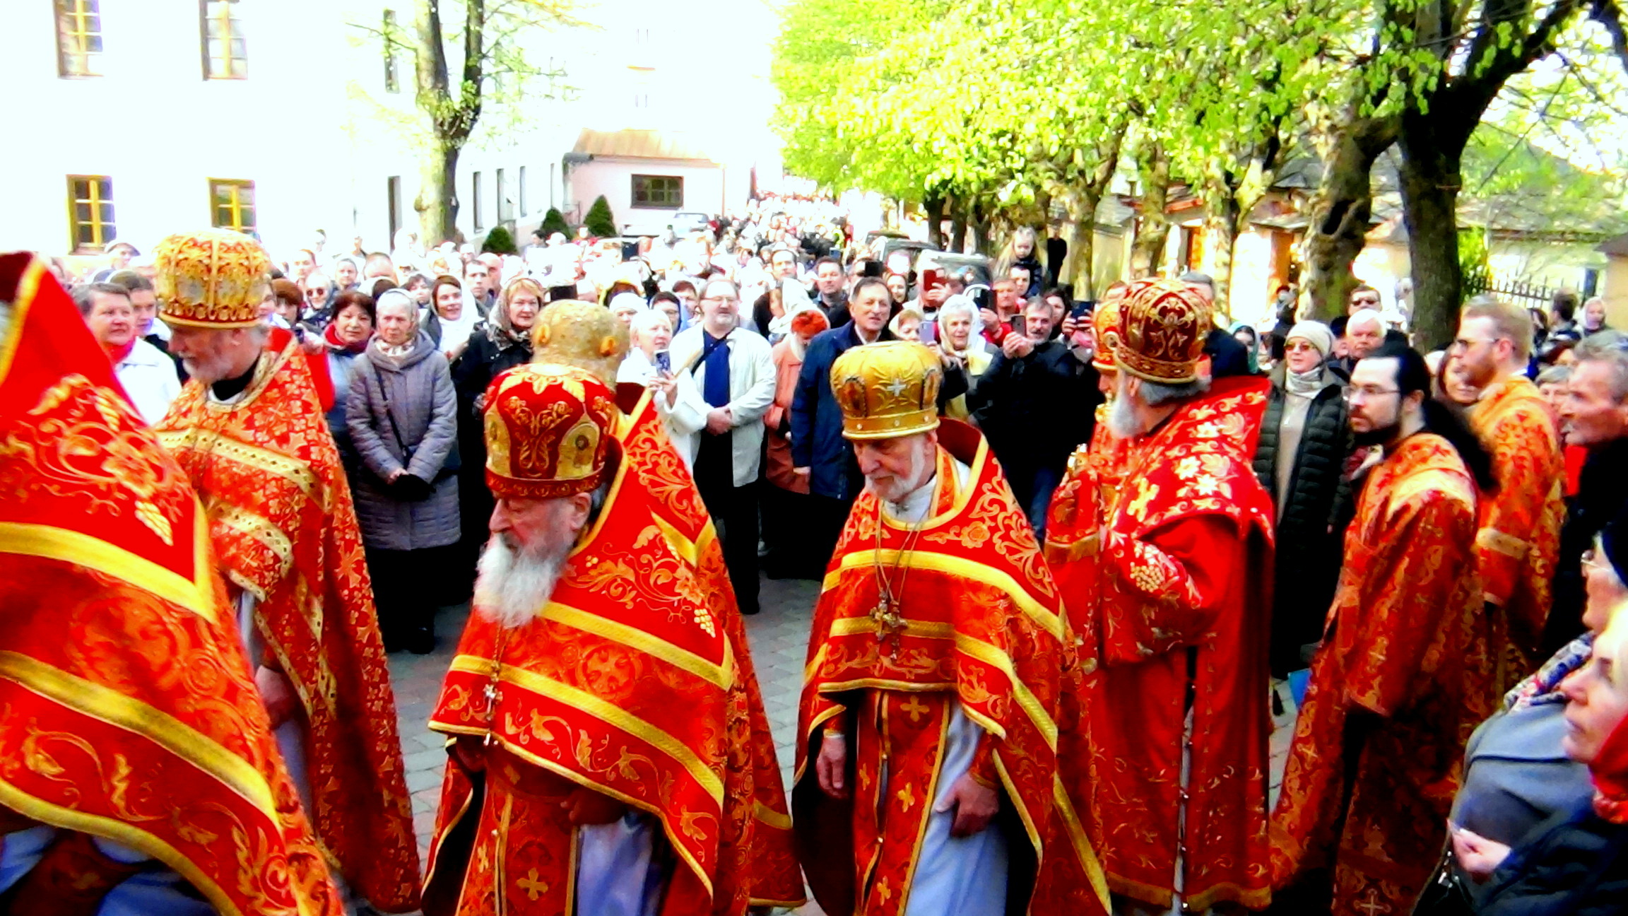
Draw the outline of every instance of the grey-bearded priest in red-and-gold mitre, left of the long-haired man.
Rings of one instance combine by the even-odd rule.
[[[1140,280],[1109,336],[1112,469],[1078,460],[1047,554],[1081,629],[1063,776],[1127,911],[1265,906],[1271,499],[1262,380],[1205,378],[1210,303]]]

